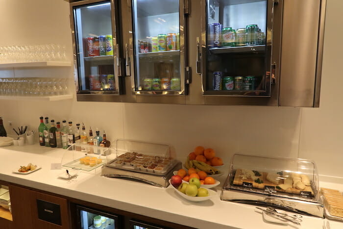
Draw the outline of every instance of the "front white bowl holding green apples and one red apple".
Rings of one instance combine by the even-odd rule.
[[[174,175],[169,179],[169,183],[178,195],[188,201],[201,202],[217,196],[217,192],[200,187],[200,180],[197,178],[189,183],[184,183],[180,176]]]

